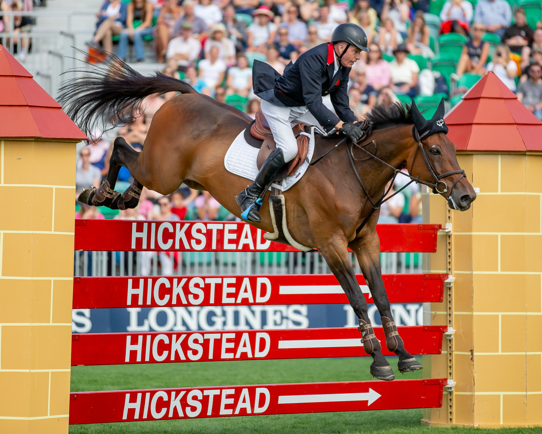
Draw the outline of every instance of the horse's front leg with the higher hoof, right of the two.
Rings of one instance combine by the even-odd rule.
[[[397,332],[395,321],[393,321],[390,301],[382,280],[380,240],[375,227],[367,228],[363,238],[357,238],[350,242],[349,247],[356,253],[363,277],[365,277],[367,285],[369,285],[373,301],[380,313],[384,335],[386,336],[386,347],[399,356],[399,362],[397,363],[399,372],[404,373],[423,369],[421,363],[406,351],[403,340]]]

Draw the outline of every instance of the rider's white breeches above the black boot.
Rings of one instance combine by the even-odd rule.
[[[320,126],[318,120],[308,111],[307,106],[279,107],[263,99],[260,101],[260,104],[262,113],[266,117],[269,128],[273,132],[276,146],[282,149],[284,161],[292,161],[298,154],[298,143],[290,124],[304,122],[309,125]]]

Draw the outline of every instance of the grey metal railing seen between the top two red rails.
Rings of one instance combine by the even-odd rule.
[[[164,252],[75,252],[74,276],[162,275]],[[171,252],[174,275],[331,273],[318,252]],[[353,253],[350,259],[361,273]],[[421,273],[422,253],[380,253],[383,273]],[[142,273],[145,270],[145,273]]]

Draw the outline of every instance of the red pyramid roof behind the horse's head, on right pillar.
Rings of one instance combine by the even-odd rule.
[[[542,151],[542,122],[488,72],[444,119],[458,151]]]

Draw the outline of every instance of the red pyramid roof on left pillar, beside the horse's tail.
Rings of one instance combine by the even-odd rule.
[[[87,138],[2,45],[0,89],[0,137]]]

